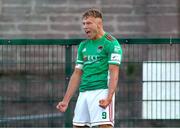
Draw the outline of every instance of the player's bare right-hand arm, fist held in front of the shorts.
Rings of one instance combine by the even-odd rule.
[[[119,66],[109,65],[109,72],[110,72],[110,80],[109,80],[108,96],[107,98],[99,101],[99,105],[102,108],[106,108],[112,101],[112,97],[115,93],[118,83]]]

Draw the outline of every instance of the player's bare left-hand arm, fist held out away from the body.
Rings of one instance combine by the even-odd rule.
[[[72,96],[74,95],[75,91],[77,90],[77,88],[79,86],[81,75],[82,75],[82,71],[78,68],[75,68],[75,70],[70,78],[68,88],[64,95],[64,98],[56,106],[56,108],[59,109],[61,112],[66,111],[69,101],[71,100]]]

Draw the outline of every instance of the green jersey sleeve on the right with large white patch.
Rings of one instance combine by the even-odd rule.
[[[122,48],[117,40],[113,40],[108,45],[108,63],[120,65],[122,60]]]

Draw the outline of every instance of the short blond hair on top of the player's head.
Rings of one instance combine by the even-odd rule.
[[[94,18],[103,19],[102,12],[96,8],[91,8],[91,9],[88,9],[87,11],[85,11],[84,14],[82,15],[82,19],[90,17],[90,16],[94,17]]]

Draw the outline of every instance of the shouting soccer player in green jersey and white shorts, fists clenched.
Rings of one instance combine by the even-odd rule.
[[[82,16],[88,37],[78,48],[75,70],[57,109],[65,112],[79,87],[74,127],[113,127],[114,95],[118,83],[122,49],[118,41],[103,29],[102,13],[89,9]]]

